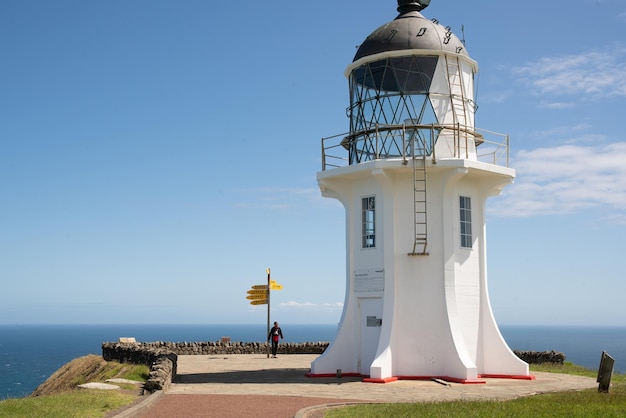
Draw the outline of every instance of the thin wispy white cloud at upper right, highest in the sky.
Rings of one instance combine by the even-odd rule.
[[[613,45],[602,51],[544,57],[513,69],[513,74],[542,96],[626,96],[626,48]],[[568,105],[558,101],[552,106]]]

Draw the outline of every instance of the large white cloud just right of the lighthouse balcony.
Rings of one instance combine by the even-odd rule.
[[[602,208],[614,220],[626,207],[626,142],[563,145],[520,151],[513,158],[515,184],[490,212],[503,217],[576,213]]]

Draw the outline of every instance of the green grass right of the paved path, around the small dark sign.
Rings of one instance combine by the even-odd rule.
[[[535,372],[566,373],[595,378],[597,372],[571,363],[532,365]],[[609,393],[596,389],[549,393],[509,401],[453,401],[438,403],[370,404],[331,409],[325,418],[393,417],[624,417],[626,374],[614,374]]]

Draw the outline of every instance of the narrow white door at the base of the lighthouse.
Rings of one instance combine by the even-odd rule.
[[[369,375],[376,357],[382,326],[382,298],[359,298],[360,345],[359,373]]]

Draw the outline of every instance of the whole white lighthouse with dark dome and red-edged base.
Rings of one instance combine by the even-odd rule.
[[[465,45],[398,0],[346,69],[350,131],[323,140],[323,196],[346,211],[346,297],[312,376],[532,378],[487,289],[485,203],[515,176],[508,137],[474,126]]]

